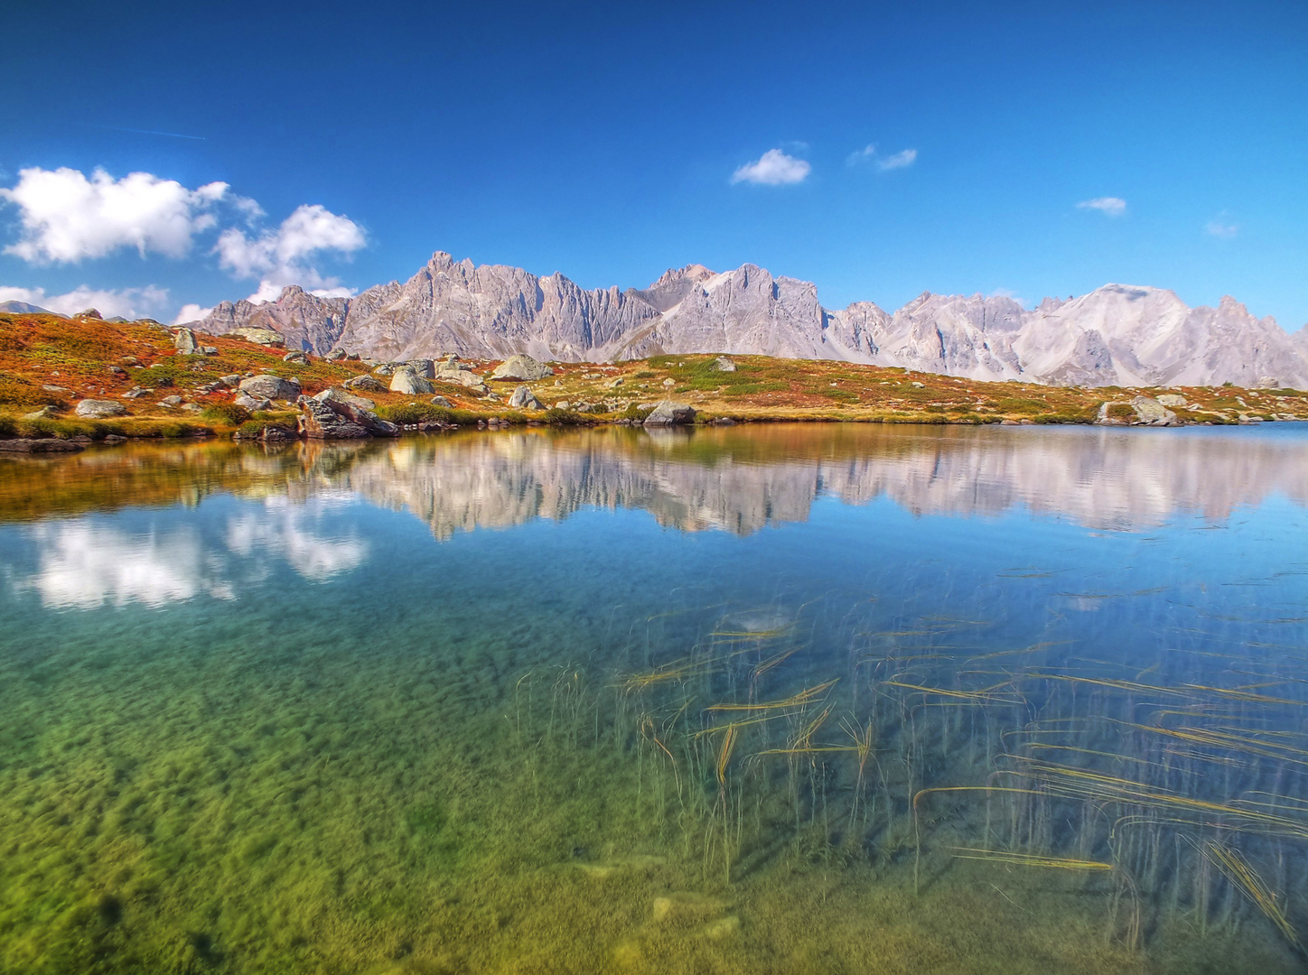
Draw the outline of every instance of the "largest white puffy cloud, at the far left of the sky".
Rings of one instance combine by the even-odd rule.
[[[182,257],[216,223],[211,209],[226,192],[226,183],[187,190],[149,173],[114,179],[97,169],[88,179],[67,167],[20,170],[17,186],[0,188],[22,221],[22,238],[5,252],[30,263],[76,263],[120,247]]]

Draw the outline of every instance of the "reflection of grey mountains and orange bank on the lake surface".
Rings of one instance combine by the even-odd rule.
[[[644,510],[681,531],[749,535],[807,520],[814,502],[831,495],[850,504],[884,497],[916,515],[1020,507],[1087,528],[1135,529],[1181,514],[1222,523],[1274,494],[1308,503],[1308,437],[1299,426],[603,427],[269,450],[141,444],[0,464],[0,518],[195,503],[213,491],[293,502],[345,493],[405,510],[441,540],[586,507]]]

